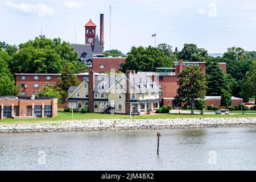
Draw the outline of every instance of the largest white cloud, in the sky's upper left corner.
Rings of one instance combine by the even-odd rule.
[[[11,9],[17,10],[25,14],[37,14],[39,17],[51,16],[53,15],[53,10],[51,7],[44,3],[39,3],[37,5],[32,5],[29,3],[14,3],[11,1],[6,1],[6,5]]]

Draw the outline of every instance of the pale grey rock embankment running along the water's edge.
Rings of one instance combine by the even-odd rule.
[[[0,133],[250,126],[256,126],[256,118],[91,119],[81,121],[0,124]]]

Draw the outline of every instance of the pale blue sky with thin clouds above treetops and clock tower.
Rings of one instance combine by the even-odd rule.
[[[99,34],[103,13],[105,50],[110,49],[110,5],[111,48],[124,53],[132,46],[155,46],[155,33],[156,44],[179,51],[185,43],[209,53],[233,46],[256,50],[255,0],[0,0],[0,41],[18,45],[42,30],[48,38],[83,44],[85,23],[91,18]]]

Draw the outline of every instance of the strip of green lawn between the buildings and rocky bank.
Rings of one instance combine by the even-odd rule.
[[[246,114],[234,114],[234,115],[224,115],[224,114],[151,114],[151,115],[135,115],[131,117],[132,119],[168,119],[168,118],[206,118],[206,117],[256,117],[255,115]],[[84,120],[84,119],[117,119],[126,118],[129,119],[130,115],[120,115],[120,114],[100,114],[100,113],[73,113],[73,120]],[[36,119],[2,119],[0,123],[33,123],[33,122],[46,122],[46,121],[64,121],[72,120],[71,113],[59,112],[54,118],[36,118]]]

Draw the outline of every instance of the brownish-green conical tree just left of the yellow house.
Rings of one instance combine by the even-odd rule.
[[[79,79],[75,75],[72,64],[67,64],[61,76],[57,79],[55,88],[61,94],[61,103],[65,103],[68,97],[68,89],[70,86],[77,86],[80,84]]]

